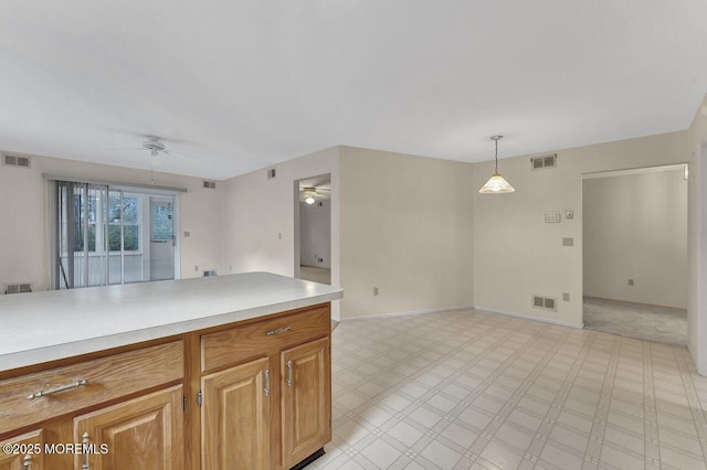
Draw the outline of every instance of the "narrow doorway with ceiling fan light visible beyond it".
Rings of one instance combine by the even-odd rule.
[[[295,181],[295,277],[331,285],[331,175]]]

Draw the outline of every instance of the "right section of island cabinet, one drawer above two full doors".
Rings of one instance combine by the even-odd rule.
[[[321,305],[200,335],[202,469],[288,469],[331,439],[330,318]]]

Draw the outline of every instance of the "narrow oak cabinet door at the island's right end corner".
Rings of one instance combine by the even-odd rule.
[[[281,354],[283,467],[289,468],[331,439],[329,339]]]

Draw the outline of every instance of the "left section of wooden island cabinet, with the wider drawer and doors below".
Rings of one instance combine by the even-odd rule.
[[[183,363],[179,340],[0,380],[0,438],[40,442],[31,469],[182,470]]]

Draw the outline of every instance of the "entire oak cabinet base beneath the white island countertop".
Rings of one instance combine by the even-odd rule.
[[[0,372],[0,470],[296,466],[331,437],[330,328],[321,303]]]

